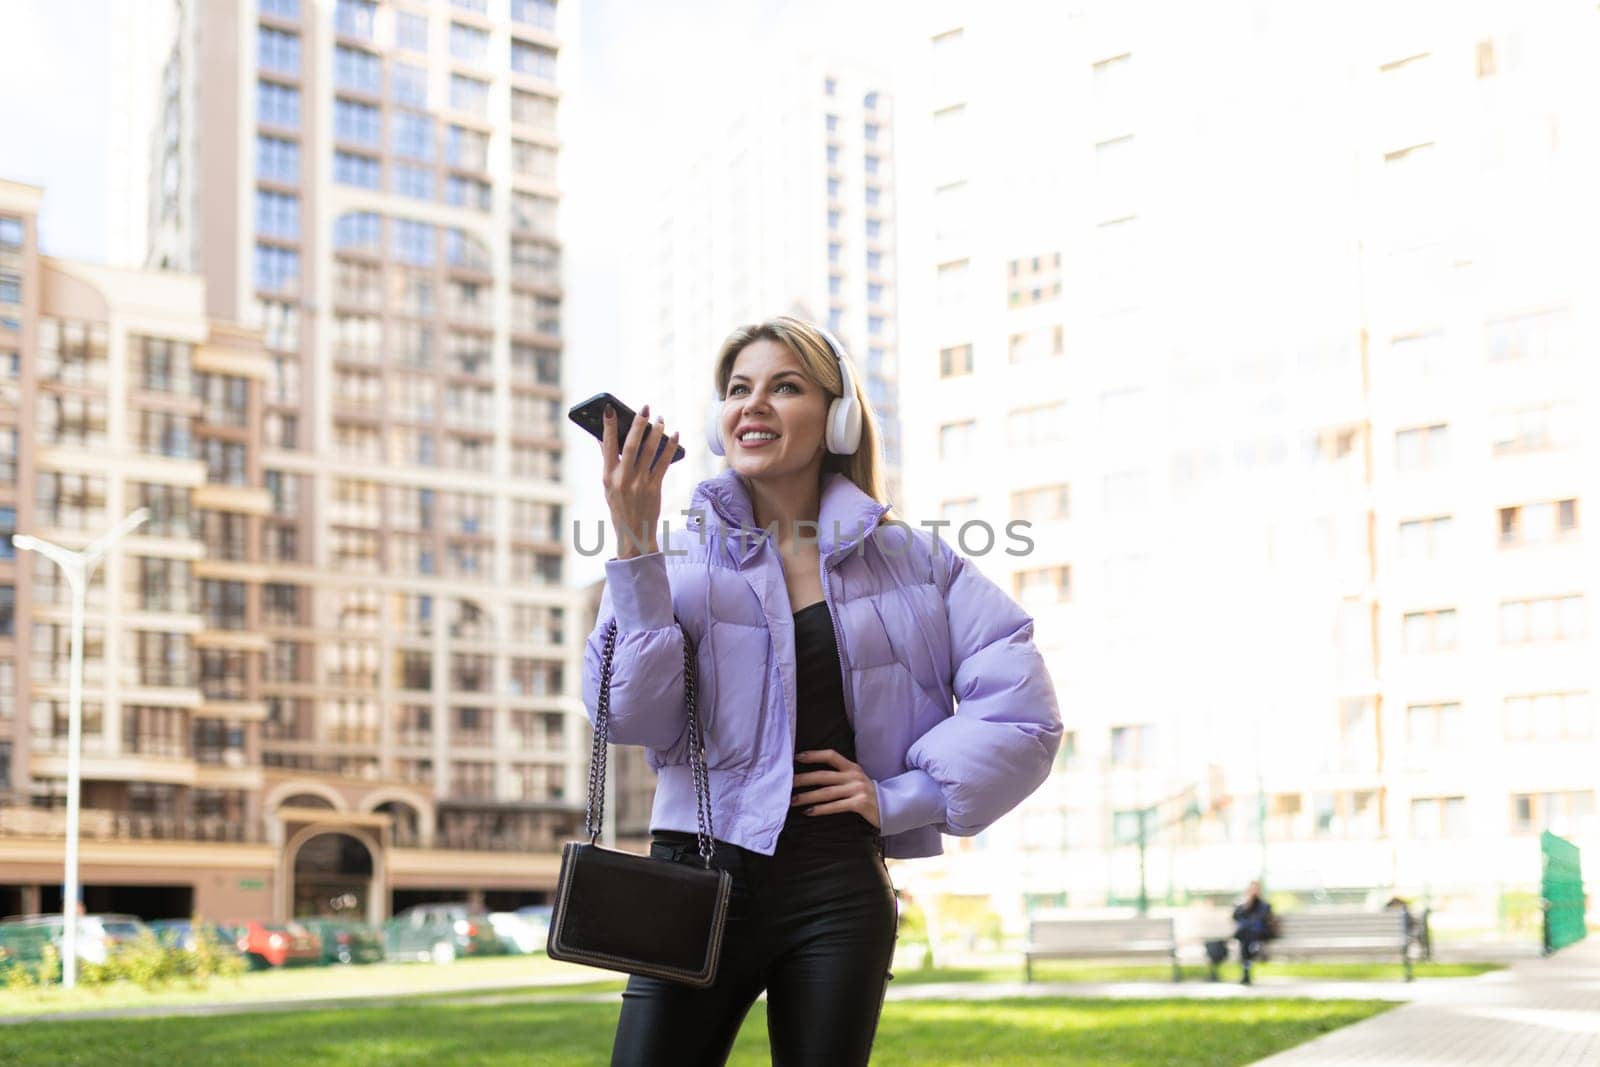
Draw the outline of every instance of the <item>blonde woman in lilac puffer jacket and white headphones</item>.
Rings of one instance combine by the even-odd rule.
[[[630,426],[606,413],[619,549],[584,654],[586,704],[592,720],[614,619],[610,731],[658,773],[650,854],[701,862],[688,632],[712,862],[734,886],[717,984],[630,976],[613,1064],[722,1064],[763,990],[774,1064],[866,1064],[896,937],[885,857],[938,856],[941,833],[990,825],[1045,781],[1061,742],[1032,619],[890,515],[853,371],[806,322],[733,331],[706,427],[728,466],[694,488],[667,544],[661,483],[680,434],[648,406]]]

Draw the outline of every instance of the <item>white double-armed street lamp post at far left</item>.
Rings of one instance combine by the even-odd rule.
[[[62,989],[75,989],[78,984],[78,777],[83,749],[83,608],[88,600],[88,581],[106,552],[149,517],[149,509],[141,507],[80,552],[30,534],[11,537],[11,544],[18,549],[38,552],[59,566],[67,585],[72,587],[72,665],[67,675],[67,859],[66,883],[61,888]]]

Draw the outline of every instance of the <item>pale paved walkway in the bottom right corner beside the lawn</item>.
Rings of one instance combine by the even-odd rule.
[[[1600,1064],[1600,937],[1506,971],[1416,984],[1437,989],[1256,1067]]]

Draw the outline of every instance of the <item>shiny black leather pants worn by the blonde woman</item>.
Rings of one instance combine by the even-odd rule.
[[[650,854],[701,862],[677,830]],[[629,976],[613,1067],[725,1064],[763,989],[773,1067],[866,1064],[898,923],[882,838],[786,830],[773,856],[717,841],[712,865],[733,875],[717,984]]]

